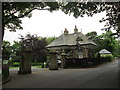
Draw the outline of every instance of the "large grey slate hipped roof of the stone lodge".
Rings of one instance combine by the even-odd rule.
[[[47,48],[49,47],[60,47],[60,46],[74,46],[76,45],[77,41],[76,39],[80,39],[79,44],[80,45],[95,45],[96,44],[93,41],[90,41],[87,39],[85,35],[83,35],[81,32],[73,33],[73,34],[67,34],[67,35],[60,35],[57,39],[55,39],[53,42],[51,42]]]

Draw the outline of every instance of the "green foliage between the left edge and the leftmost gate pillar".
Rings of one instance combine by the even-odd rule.
[[[3,41],[2,43],[2,59],[3,60],[9,60],[9,64],[11,65],[17,65],[16,61],[20,61],[21,56],[20,56],[20,48],[21,45],[19,42],[14,41],[13,45],[10,45],[10,42],[8,41]],[[15,62],[15,64],[14,64]]]

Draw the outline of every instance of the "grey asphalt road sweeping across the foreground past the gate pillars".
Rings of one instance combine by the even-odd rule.
[[[11,81],[3,88],[118,88],[118,60],[96,68],[32,68],[32,74],[18,75],[10,70]]]

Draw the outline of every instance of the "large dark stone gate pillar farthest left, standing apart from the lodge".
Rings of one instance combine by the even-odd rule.
[[[20,68],[18,74],[30,74],[31,73],[31,49],[27,48],[22,51],[22,59],[20,62]]]

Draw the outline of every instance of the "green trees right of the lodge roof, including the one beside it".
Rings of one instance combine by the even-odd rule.
[[[88,32],[86,36],[97,44],[97,52],[101,49],[107,49],[112,52],[114,56],[119,56],[120,41],[118,41],[114,36],[111,36],[111,34],[113,34],[112,31],[108,31],[101,35],[97,35],[95,31],[92,31]]]

